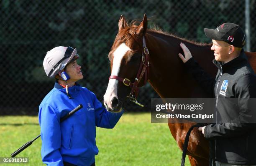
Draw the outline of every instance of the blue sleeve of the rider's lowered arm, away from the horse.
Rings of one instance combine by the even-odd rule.
[[[41,156],[42,161],[48,166],[63,166],[62,156],[59,152],[61,147],[60,121],[54,108],[45,104],[39,112],[41,127]]]

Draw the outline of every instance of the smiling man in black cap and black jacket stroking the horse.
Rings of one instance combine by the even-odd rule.
[[[189,49],[180,43],[185,63],[195,79],[210,88],[216,98],[216,113],[223,123],[200,127],[205,138],[215,143],[216,166],[256,165],[255,108],[256,75],[243,51],[245,34],[239,25],[224,23],[216,29],[205,28],[212,39],[213,63],[218,68],[216,78],[198,65]],[[228,99],[235,99],[228,102]],[[219,121],[218,121],[219,122]]]

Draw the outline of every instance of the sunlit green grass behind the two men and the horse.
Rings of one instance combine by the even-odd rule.
[[[40,134],[36,116],[0,117],[0,157]],[[97,128],[97,166],[179,166],[182,152],[166,123],[151,123],[150,113],[124,113],[113,129]],[[42,166],[41,139],[17,157],[29,157],[31,166]],[[20,164],[0,164],[0,166]],[[189,166],[186,158],[186,166]]]

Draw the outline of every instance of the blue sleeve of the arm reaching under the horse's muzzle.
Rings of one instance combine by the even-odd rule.
[[[102,103],[97,99],[94,93],[91,91],[90,95],[95,108],[95,123],[97,127],[102,128],[114,128],[115,124],[119,121],[123,114],[123,110],[119,113],[110,113],[102,106]]]

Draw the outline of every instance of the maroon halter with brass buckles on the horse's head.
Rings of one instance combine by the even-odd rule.
[[[141,78],[145,75],[144,77],[144,85],[146,85],[147,80],[148,80],[148,73],[149,73],[149,61],[148,61],[148,56],[149,56],[149,52],[148,52],[148,48],[146,47],[146,40],[145,37],[143,36],[143,43],[142,43],[143,49],[142,49],[142,57],[141,57],[141,63],[140,63],[140,67],[138,70],[138,73],[136,75],[136,78],[134,80],[133,83],[131,83],[131,80],[129,80],[128,78],[121,78],[117,75],[110,75],[109,80],[110,79],[116,79],[119,80],[120,82],[122,82],[125,86],[130,86],[131,87],[131,93],[128,96],[130,98],[130,100],[134,103],[136,103],[137,105],[144,107],[142,104],[138,103],[137,101],[137,96],[138,96],[138,83],[140,83]],[[144,86],[143,85],[143,86]]]

